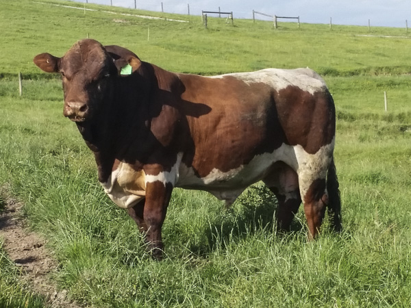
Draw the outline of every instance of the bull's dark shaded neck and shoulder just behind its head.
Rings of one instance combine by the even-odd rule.
[[[101,182],[110,177],[115,159],[132,159],[127,157],[127,151],[133,140],[145,140],[152,78],[149,73],[142,70],[141,74],[114,78],[103,101],[99,102],[97,114],[89,122],[77,123],[95,155]]]

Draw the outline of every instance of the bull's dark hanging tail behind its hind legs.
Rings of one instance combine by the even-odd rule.
[[[331,227],[336,232],[340,232],[341,225],[341,198],[338,184],[338,177],[336,172],[336,165],[334,158],[329,164],[327,172],[327,192],[328,192],[328,214],[331,221]]]

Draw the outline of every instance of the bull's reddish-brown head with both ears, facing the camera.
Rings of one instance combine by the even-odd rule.
[[[120,51],[120,55],[113,53]],[[73,45],[63,57],[41,53],[34,63],[47,73],[62,75],[64,90],[64,116],[82,123],[92,118],[101,107],[104,98],[110,95],[110,80],[118,77],[125,64],[136,70],[140,60],[131,51],[122,47],[105,49],[96,40],[85,39]]]

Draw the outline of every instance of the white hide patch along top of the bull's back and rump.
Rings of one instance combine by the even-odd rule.
[[[224,78],[227,76],[245,81],[246,84],[264,83],[272,86],[276,91],[283,90],[288,86],[297,86],[310,94],[322,92],[326,89],[324,80],[310,68],[296,68],[294,70],[266,68],[256,72],[231,73],[211,76],[210,78]]]

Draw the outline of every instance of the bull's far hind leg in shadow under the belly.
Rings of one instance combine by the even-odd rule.
[[[277,163],[264,183],[277,197],[277,230],[289,231],[301,204],[297,173],[286,164]]]

